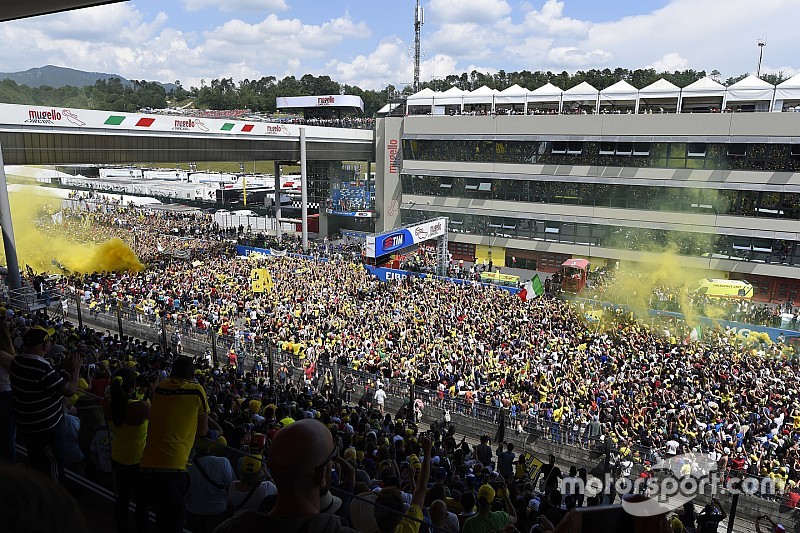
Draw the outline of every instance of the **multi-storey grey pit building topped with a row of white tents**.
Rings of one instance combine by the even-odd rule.
[[[378,119],[377,230],[447,216],[455,259],[544,272],[671,249],[756,300],[796,301],[798,85],[425,89]]]

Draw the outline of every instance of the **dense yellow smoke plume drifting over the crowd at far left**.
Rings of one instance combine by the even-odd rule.
[[[58,272],[58,263],[67,270],[80,273],[144,268],[136,254],[120,239],[97,245],[81,242],[81,235],[70,235],[60,228],[43,231],[36,224],[37,218],[49,217],[60,209],[60,200],[47,196],[44,188],[26,187],[10,192],[9,201],[17,257],[23,269],[29,265],[37,272]],[[86,227],[85,231],[94,229]],[[2,255],[5,262],[5,254]]]

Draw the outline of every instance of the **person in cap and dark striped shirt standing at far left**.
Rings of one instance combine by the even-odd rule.
[[[24,351],[14,357],[9,371],[14,420],[25,439],[28,464],[59,481],[64,476],[58,444],[64,421],[62,402],[78,390],[81,358],[73,354],[64,360],[69,378],[55,370],[44,358],[52,348],[54,333],[40,326],[25,332]]]

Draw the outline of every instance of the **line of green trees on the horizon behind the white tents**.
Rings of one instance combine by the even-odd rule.
[[[470,73],[449,75],[435,78],[420,84],[420,89],[430,88],[434,91],[446,91],[450,87],[458,87],[464,91],[472,91],[486,85],[492,89],[503,90],[514,84],[527,89],[535,89],[546,83],[552,83],[561,89],[569,89],[581,82],[588,82],[596,89],[603,90],[614,83],[625,80],[637,89],[641,89],[659,78],[674,83],[678,87],[686,87],[703,77],[704,70],[683,70],[674,72],[657,72],[655,69],[624,68],[579,70],[573,74],[566,71],[560,73],[527,70],[519,72],[482,73],[473,70]],[[723,85],[732,85],[747,74],[721,80],[716,70],[708,74]],[[764,81],[778,84],[786,79],[782,72],[761,76]],[[234,82],[233,78],[200,80],[200,87],[186,89],[180,80],[175,81],[175,88],[167,91],[161,84],[144,80],[134,80],[130,85],[119,78],[97,80],[94,85],[86,87],[65,86],[53,88],[48,86],[29,87],[18,85],[12,80],[0,80],[0,102],[13,104],[30,104],[54,107],[71,107],[82,109],[102,109],[107,111],[136,112],[144,108],[163,109],[168,106],[186,105],[198,109],[251,109],[255,112],[274,113],[279,96],[320,96],[329,94],[350,94],[360,96],[364,100],[364,114],[372,116],[383,107],[390,98],[413,93],[411,87],[398,89],[387,85],[383,90],[364,90],[358,86],[340,84],[329,76],[313,76],[306,74],[300,79],[287,76],[278,80],[275,76],[264,76],[260,79],[244,79]]]

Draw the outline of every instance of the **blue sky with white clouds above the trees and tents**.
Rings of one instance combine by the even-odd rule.
[[[198,86],[328,75],[413,80],[414,0],[132,0],[0,23],[0,72],[47,64]],[[421,78],[654,67],[800,72],[800,0],[421,0]],[[0,8],[2,9],[2,8]]]

